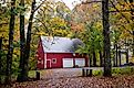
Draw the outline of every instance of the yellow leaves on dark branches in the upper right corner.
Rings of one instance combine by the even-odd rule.
[[[131,38],[133,32],[133,20],[131,14],[132,4],[121,0],[117,1],[115,7],[117,9],[117,12],[111,15],[112,28],[114,28],[114,30],[118,30],[120,28],[120,32],[122,33],[120,36],[121,40]],[[111,8],[112,11],[116,11],[116,9]]]

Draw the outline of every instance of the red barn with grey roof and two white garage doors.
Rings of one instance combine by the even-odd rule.
[[[37,52],[37,67],[44,69],[87,66],[87,57],[74,53],[82,44],[79,38],[41,36]]]

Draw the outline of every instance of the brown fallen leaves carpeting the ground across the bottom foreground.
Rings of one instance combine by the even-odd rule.
[[[17,82],[12,88],[134,88],[134,76],[53,78]]]

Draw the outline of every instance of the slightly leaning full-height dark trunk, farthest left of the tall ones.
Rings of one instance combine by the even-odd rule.
[[[14,20],[16,20],[16,0],[11,0],[11,18],[9,24],[9,46],[7,55],[7,69],[6,69],[6,81],[11,82],[11,66],[12,66],[12,54],[13,54],[13,33],[14,33]]]

